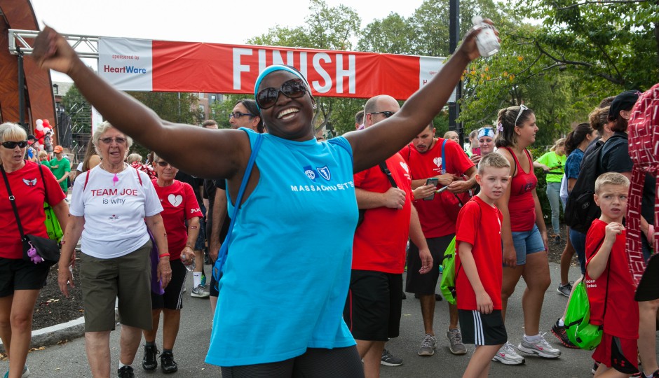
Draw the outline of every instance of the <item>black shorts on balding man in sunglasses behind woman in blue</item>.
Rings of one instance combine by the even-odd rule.
[[[355,270],[344,320],[358,340],[387,341],[398,337],[402,307],[402,274]]]

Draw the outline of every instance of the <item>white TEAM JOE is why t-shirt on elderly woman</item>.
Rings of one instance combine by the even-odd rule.
[[[81,250],[95,258],[117,258],[143,246],[149,240],[144,217],[163,211],[144,172],[127,167],[117,174],[118,181],[113,178],[99,165],[80,174],[73,187],[69,212],[85,217]]]

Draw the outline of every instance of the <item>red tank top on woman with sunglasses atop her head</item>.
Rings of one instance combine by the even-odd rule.
[[[510,230],[514,232],[530,231],[536,223],[536,202],[533,199],[531,190],[536,188],[538,179],[533,171],[533,161],[531,154],[524,148],[526,158],[529,158],[529,172],[524,172],[522,165],[515,152],[508,147],[502,147],[508,150],[512,158],[515,159],[517,175],[512,177],[510,183],[510,199],[508,200],[508,214],[510,214]]]

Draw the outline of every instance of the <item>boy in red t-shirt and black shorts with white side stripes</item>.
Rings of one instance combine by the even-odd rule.
[[[492,358],[508,340],[501,316],[503,259],[496,201],[510,183],[510,163],[491,153],[478,164],[480,193],[458,214],[456,301],[465,344],[475,344],[463,377],[487,377]]]

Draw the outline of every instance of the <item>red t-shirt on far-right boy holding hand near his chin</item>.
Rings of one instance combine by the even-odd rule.
[[[599,251],[606,235],[606,223],[595,219],[586,235],[586,266]],[[609,295],[604,313],[604,332],[609,335],[636,339],[639,337],[639,304],[634,301],[636,288],[632,281],[630,266],[625,251],[625,235],[616,237],[611,248],[611,260],[598,279],[591,279],[586,271],[586,288],[590,302],[590,323],[602,324],[606,281],[609,279]]]

